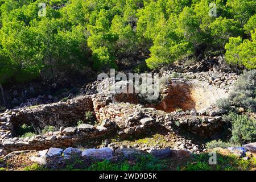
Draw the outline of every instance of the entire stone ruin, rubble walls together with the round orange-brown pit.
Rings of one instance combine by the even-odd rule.
[[[67,102],[7,110],[0,114],[0,150],[7,154],[71,147],[108,135],[126,138],[143,134],[153,126],[185,130],[207,138],[220,133],[226,125],[222,119],[225,110],[212,106],[217,99],[228,96],[225,89],[209,82],[172,78],[161,94],[162,100],[158,103],[141,104],[134,94],[117,95],[101,90]],[[93,111],[97,124],[76,126],[79,119],[84,119],[86,111]],[[53,125],[59,127],[59,131],[19,138],[16,130],[24,123],[35,129]]]

